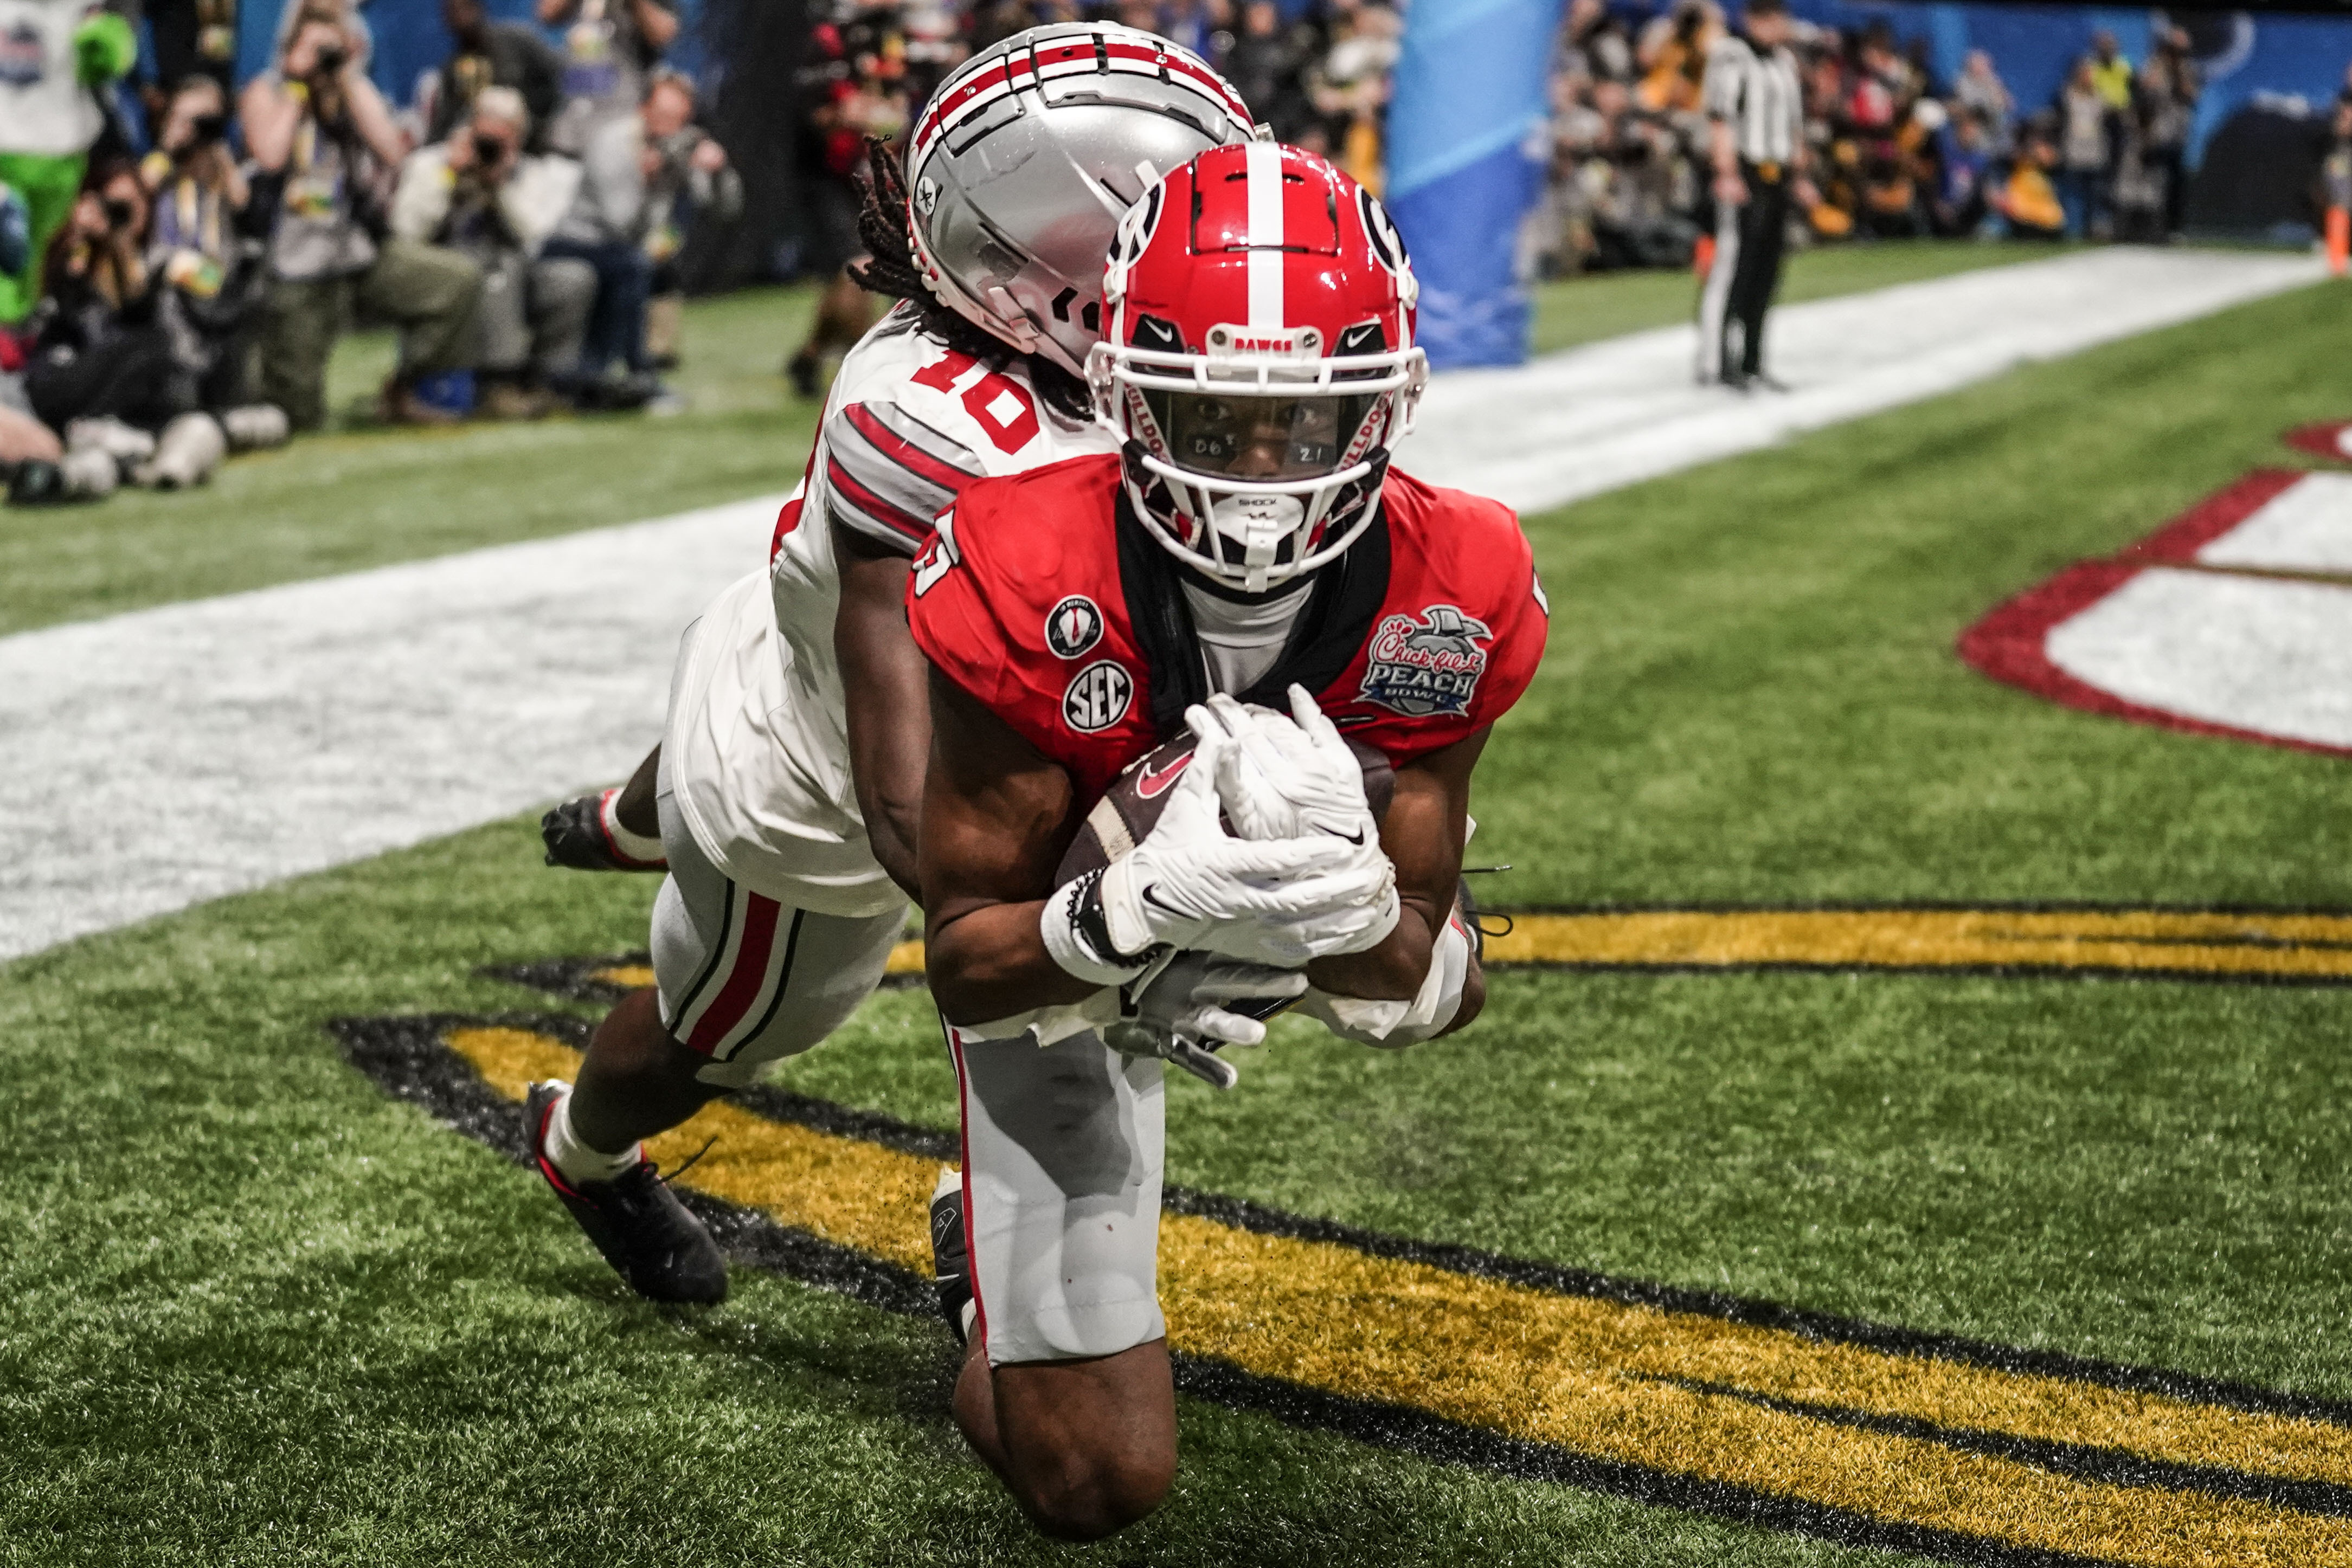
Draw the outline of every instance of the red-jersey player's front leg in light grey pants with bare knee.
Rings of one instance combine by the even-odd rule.
[[[1094,1034],[950,1034],[964,1107],[971,1342],[955,1420],[1049,1535],[1096,1540],[1176,1479],[1160,1316],[1160,1063]]]

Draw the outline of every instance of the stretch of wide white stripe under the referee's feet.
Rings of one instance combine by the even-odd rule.
[[[2114,247],[1785,306],[1764,343],[1785,395],[1696,386],[1696,327],[1661,327],[1439,376],[1397,463],[1538,512],[2324,275],[2310,256]]]

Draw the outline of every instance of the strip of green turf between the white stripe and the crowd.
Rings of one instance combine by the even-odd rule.
[[[1851,294],[2042,252],[1872,244],[1799,256],[1790,299]],[[1618,273],[1541,292],[1536,348],[1689,317],[1675,273]],[[336,430],[235,458],[200,491],[118,491],[71,510],[0,508],[0,637],[146,604],[200,599],[452,550],[666,517],[788,489],[818,404],[779,374],[807,331],[804,287],[687,308],[673,418],[614,414],[407,433],[369,425],[393,339],[336,346]]]

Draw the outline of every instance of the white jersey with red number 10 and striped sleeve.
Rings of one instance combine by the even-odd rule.
[[[849,350],[769,569],[703,611],[670,689],[670,788],[715,867],[816,914],[903,903],[866,844],[849,778],[828,520],[913,557],[971,480],[1098,451],[1117,451],[1117,437],[1047,409],[1018,360],[990,369],[948,348],[910,306]]]

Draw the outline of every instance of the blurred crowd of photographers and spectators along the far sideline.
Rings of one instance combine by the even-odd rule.
[[[532,21],[442,0],[449,54],[407,106],[369,80],[355,0],[292,0],[273,66],[242,89],[233,0],[143,0],[143,61],[136,5],[47,7],[47,75],[26,101],[49,108],[0,125],[12,498],[188,484],[226,451],[320,428],[329,353],[362,322],[400,329],[374,400],[390,423],[677,407],[661,381],[677,256],[689,228],[741,214],[743,183],[699,125],[696,82],[663,66],[673,0],[536,0]],[[948,71],[1021,28],[1110,19],[1174,38],[1275,136],[1381,188],[1402,0],[849,0],[826,16],[776,94],[800,202],[788,268],[826,280],[783,367],[807,395],[875,310],[844,270],[868,139],[901,139]],[[1724,28],[1715,0],[1571,2],[1526,228],[1538,270],[1700,256],[1715,226],[1700,85]],[[2180,230],[2199,94],[2180,33],[2147,59],[2098,35],[2049,103],[2018,103],[1980,52],[1938,80],[1926,42],[1889,21],[1799,24],[1797,49],[1809,240]],[[2352,174],[2338,183],[2352,200]]]

